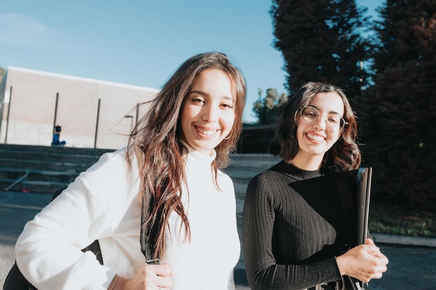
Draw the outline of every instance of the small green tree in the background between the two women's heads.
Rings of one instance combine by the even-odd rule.
[[[264,98],[262,97],[262,94],[263,90],[259,88],[259,98],[253,104],[253,113],[258,119],[257,124],[274,124],[277,108],[280,104],[286,102],[288,96],[286,95],[286,92],[279,95],[279,92],[277,92],[275,88],[268,88]]]

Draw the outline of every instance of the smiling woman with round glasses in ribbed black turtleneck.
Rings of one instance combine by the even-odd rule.
[[[283,161],[251,179],[244,204],[251,289],[336,289],[341,275],[368,282],[387,270],[371,239],[348,248],[334,172],[359,168],[356,138],[355,114],[336,86],[306,83],[279,108],[270,152]]]

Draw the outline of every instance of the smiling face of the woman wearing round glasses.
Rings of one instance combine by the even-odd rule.
[[[320,112],[320,118],[313,124],[306,124],[297,119],[297,141],[299,151],[294,160],[301,164],[316,165],[320,167],[322,157],[341,136],[341,131],[327,129],[326,118],[335,114],[343,116],[344,105],[342,98],[334,92],[320,92],[316,94],[309,106]],[[303,166],[299,166],[305,169]],[[313,169],[313,168],[311,168]]]

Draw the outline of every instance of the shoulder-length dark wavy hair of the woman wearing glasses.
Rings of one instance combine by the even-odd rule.
[[[329,83],[304,83],[293,97],[279,107],[276,131],[269,152],[285,160],[295,157],[299,150],[297,141],[299,110],[308,106],[311,99],[320,92],[334,92],[341,97],[344,106],[343,119],[346,122],[341,137],[325,153],[322,167],[329,167],[335,171],[357,169],[361,163],[361,152],[357,145],[356,115],[343,90]]]

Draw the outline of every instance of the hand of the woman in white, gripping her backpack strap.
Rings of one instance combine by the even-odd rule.
[[[109,290],[161,290],[173,286],[173,272],[168,264],[145,264],[132,280],[116,276]]]

